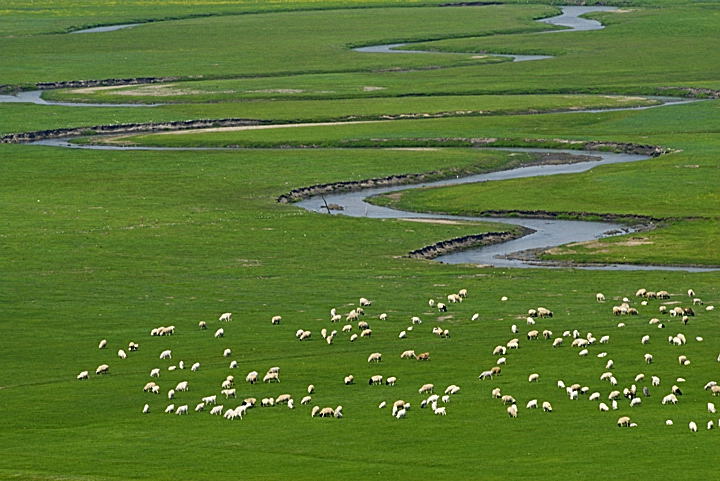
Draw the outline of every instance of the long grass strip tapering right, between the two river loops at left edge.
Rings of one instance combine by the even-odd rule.
[[[157,99],[155,101],[164,100]],[[192,119],[244,118],[274,122],[316,122],[382,119],[387,116],[476,116],[539,113],[555,110],[618,108],[657,104],[642,97],[598,95],[478,95],[422,98],[252,101],[211,104],[170,104],[156,107],[64,107],[1,104],[0,134]]]

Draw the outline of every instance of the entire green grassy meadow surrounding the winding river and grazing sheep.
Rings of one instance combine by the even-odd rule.
[[[467,479],[560,480],[713,478],[720,441],[717,403],[703,386],[717,378],[720,353],[718,272],[499,269],[406,257],[442,240],[512,231],[488,222],[410,222],[311,213],[278,196],[313,184],[406,173],[465,175],[533,162],[529,154],[473,148],[567,147],[566,140],[658,145],[671,152],[583,174],[412,189],[377,202],[416,211],[478,214],[548,210],[567,215],[644,215],[659,228],[558,246],[544,259],[575,263],[720,264],[716,188],[720,101],[647,110],[578,113],[647,106],[638,95],[665,87],[717,89],[720,4],[621,1],[625,13],[593,15],[595,32],[539,34],[533,19],[558,11],[552,2],[439,8],[438,1],[312,0],[227,2],[59,2],[9,0],[0,7],[0,85],[114,77],[177,77],[113,89],[47,91],[51,99],[157,107],[62,107],[0,104],[0,133],[129,122],[251,118],[276,124],[342,122],[247,131],[142,133],[112,141],[145,146],[218,147],[223,151],[102,151],[0,144],[0,479],[217,480]],[[81,27],[148,22],[102,34]],[[661,36],[662,35],[662,36]],[[427,41],[449,52],[549,53],[554,59],[511,63],[463,54],[360,54],[351,46]],[[639,53],[640,52],[640,53]],[[481,58],[473,58],[481,57]],[[688,95],[687,91],[683,91]],[[707,95],[707,92],[699,95]],[[571,113],[567,113],[571,112]],[[84,143],[107,141],[98,136]],[[402,148],[402,149],[401,149]],[[319,201],[318,201],[319,202]],[[428,299],[466,288],[448,312]],[[670,299],[634,297],[639,288]],[[703,305],[692,304],[694,289]],[[606,302],[596,302],[595,294]],[[341,330],[363,296],[371,337]],[[501,300],[503,296],[507,300]],[[638,316],[612,315],[624,297]],[[661,305],[693,307],[683,324]],[[554,312],[526,321],[530,308]],[[330,322],[330,309],[343,319]],[[220,323],[223,312],[233,320]],[[387,313],[388,319],[378,319]],[[474,314],[477,320],[472,321]],[[281,315],[280,325],[271,325]],[[408,331],[410,318],[422,324]],[[659,319],[664,329],[651,324]],[[198,328],[199,321],[209,324]],[[624,327],[618,327],[618,323]],[[654,322],[654,321],[653,321]],[[176,333],[152,337],[158,326]],[[514,333],[511,326],[519,332]],[[431,333],[435,326],[449,338]],[[213,337],[219,327],[222,339]],[[307,341],[297,329],[310,330]],[[528,340],[545,329],[552,340]],[[564,331],[592,333],[607,344],[571,347]],[[398,337],[401,331],[406,339]],[[682,332],[687,344],[667,337]],[[640,343],[650,335],[647,345]],[[492,350],[518,338],[502,373],[479,380],[498,362]],[[98,349],[101,339],[108,348]],[[121,360],[118,349],[140,345]],[[232,349],[230,357],[223,350]],[[170,361],[160,352],[172,349]],[[400,359],[407,349],[427,362]],[[382,362],[368,355],[381,352]],[[598,355],[605,352],[605,357]],[[645,353],[654,361],[646,364]],[[678,356],[691,361],[683,366]],[[230,369],[231,360],[238,362]],[[608,360],[614,367],[606,368]],[[168,370],[200,362],[197,372]],[[107,363],[109,374],[95,375]],[[247,384],[280,367],[278,384]],[[161,394],[142,392],[152,368]],[[90,379],[78,381],[80,371]],[[619,384],[599,377],[612,371]],[[530,373],[538,383],[529,383]],[[644,380],[635,380],[637,374]],[[237,399],[220,383],[235,376]],[[355,383],[343,378],[353,374]],[[397,376],[395,386],[368,378]],[[659,376],[660,386],[650,385]],[[678,380],[683,378],[684,381]],[[579,383],[610,404],[613,389],[647,386],[649,397],[600,412],[558,389]],[[168,400],[189,381],[189,392]],[[425,383],[435,392],[457,384],[447,416],[420,408]],[[308,384],[315,393],[301,405]],[[677,405],[660,400],[674,384]],[[517,399],[510,419],[490,392]],[[203,396],[234,408],[247,397],[290,393],[295,408],[256,407],[229,421],[193,408]],[[411,403],[406,419],[378,404]],[[552,413],[526,409],[550,401]],[[144,404],[150,413],[142,414]],[[164,414],[187,404],[188,416]],[[312,418],[313,406],[343,406],[342,419]],[[443,405],[441,403],[441,405]],[[637,427],[618,428],[631,416]],[[666,426],[672,419],[674,425]],[[697,422],[699,432],[688,430]],[[678,474],[679,475],[679,474]]]

